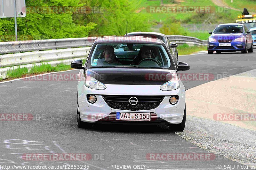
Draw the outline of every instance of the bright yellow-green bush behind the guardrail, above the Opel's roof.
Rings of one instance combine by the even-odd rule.
[[[82,0],[89,8],[99,8],[100,13],[74,14],[77,24],[97,24],[91,36],[124,35],[127,31],[149,31],[151,24],[143,13],[136,13],[134,1],[129,0]]]

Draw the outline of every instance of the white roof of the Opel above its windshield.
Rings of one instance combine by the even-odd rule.
[[[107,36],[99,37],[95,43],[143,43],[143,44],[164,44],[163,41],[156,38],[140,37],[140,36]]]

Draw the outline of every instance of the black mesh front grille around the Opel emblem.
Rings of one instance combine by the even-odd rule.
[[[102,95],[109,107],[118,110],[151,110],[160,105],[164,96],[134,96],[138,99],[136,105],[131,105],[129,99],[133,96]]]

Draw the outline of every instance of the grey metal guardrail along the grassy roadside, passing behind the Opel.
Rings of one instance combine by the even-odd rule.
[[[167,35],[167,37],[177,44],[207,45],[207,41],[195,37],[182,35]],[[42,63],[69,64],[74,59],[85,59],[90,50],[88,46],[92,46],[96,38],[0,42],[0,54],[3,54],[0,55],[0,78],[6,78],[8,70],[16,69],[19,66],[30,69],[34,65],[41,65]]]

